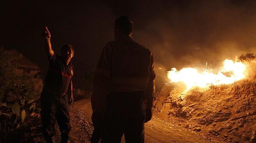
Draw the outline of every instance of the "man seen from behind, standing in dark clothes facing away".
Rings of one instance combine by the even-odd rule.
[[[115,40],[105,45],[95,71],[91,102],[93,113],[104,113],[103,143],[120,143],[123,134],[127,143],[143,143],[152,116],[153,55],[132,39],[132,30],[129,17],[116,19]]]

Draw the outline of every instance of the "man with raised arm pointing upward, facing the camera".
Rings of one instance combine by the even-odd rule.
[[[53,143],[54,125],[57,120],[61,132],[61,143],[69,143],[71,126],[68,102],[72,103],[74,100],[72,93],[74,66],[70,60],[74,56],[74,48],[71,45],[64,45],[61,49],[61,56],[58,56],[52,50],[51,35],[47,27],[42,36],[45,38],[45,51],[50,62],[41,93],[43,134],[47,143]],[[68,91],[71,96],[70,100],[67,96]]]

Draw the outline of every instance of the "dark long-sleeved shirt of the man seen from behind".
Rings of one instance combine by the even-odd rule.
[[[122,36],[105,45],[95,71],[92,107],[97,110],[108,92],[145,91],[152,106],[155,71],[149,49]]]

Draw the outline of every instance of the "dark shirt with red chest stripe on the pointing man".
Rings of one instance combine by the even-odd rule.
[[[67,65],[55,52],[52,56],[48,56],[48,60],[50,65],[43,90],[56,95],[66,93],[74,75],[74,66],[71,61]]]

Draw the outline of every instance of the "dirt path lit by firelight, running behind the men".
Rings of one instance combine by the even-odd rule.
[[[70,105],[72,143],[89,143],[93,131],[90,99],[81,99]],[[57,132],[56,139],[60,141]],[[124,143],[124,137],[122,143]],[[207,143],[210,142],[197,132],[179,127],[177,122],[165,122],[157,117],[145,124],[145,143]]]

